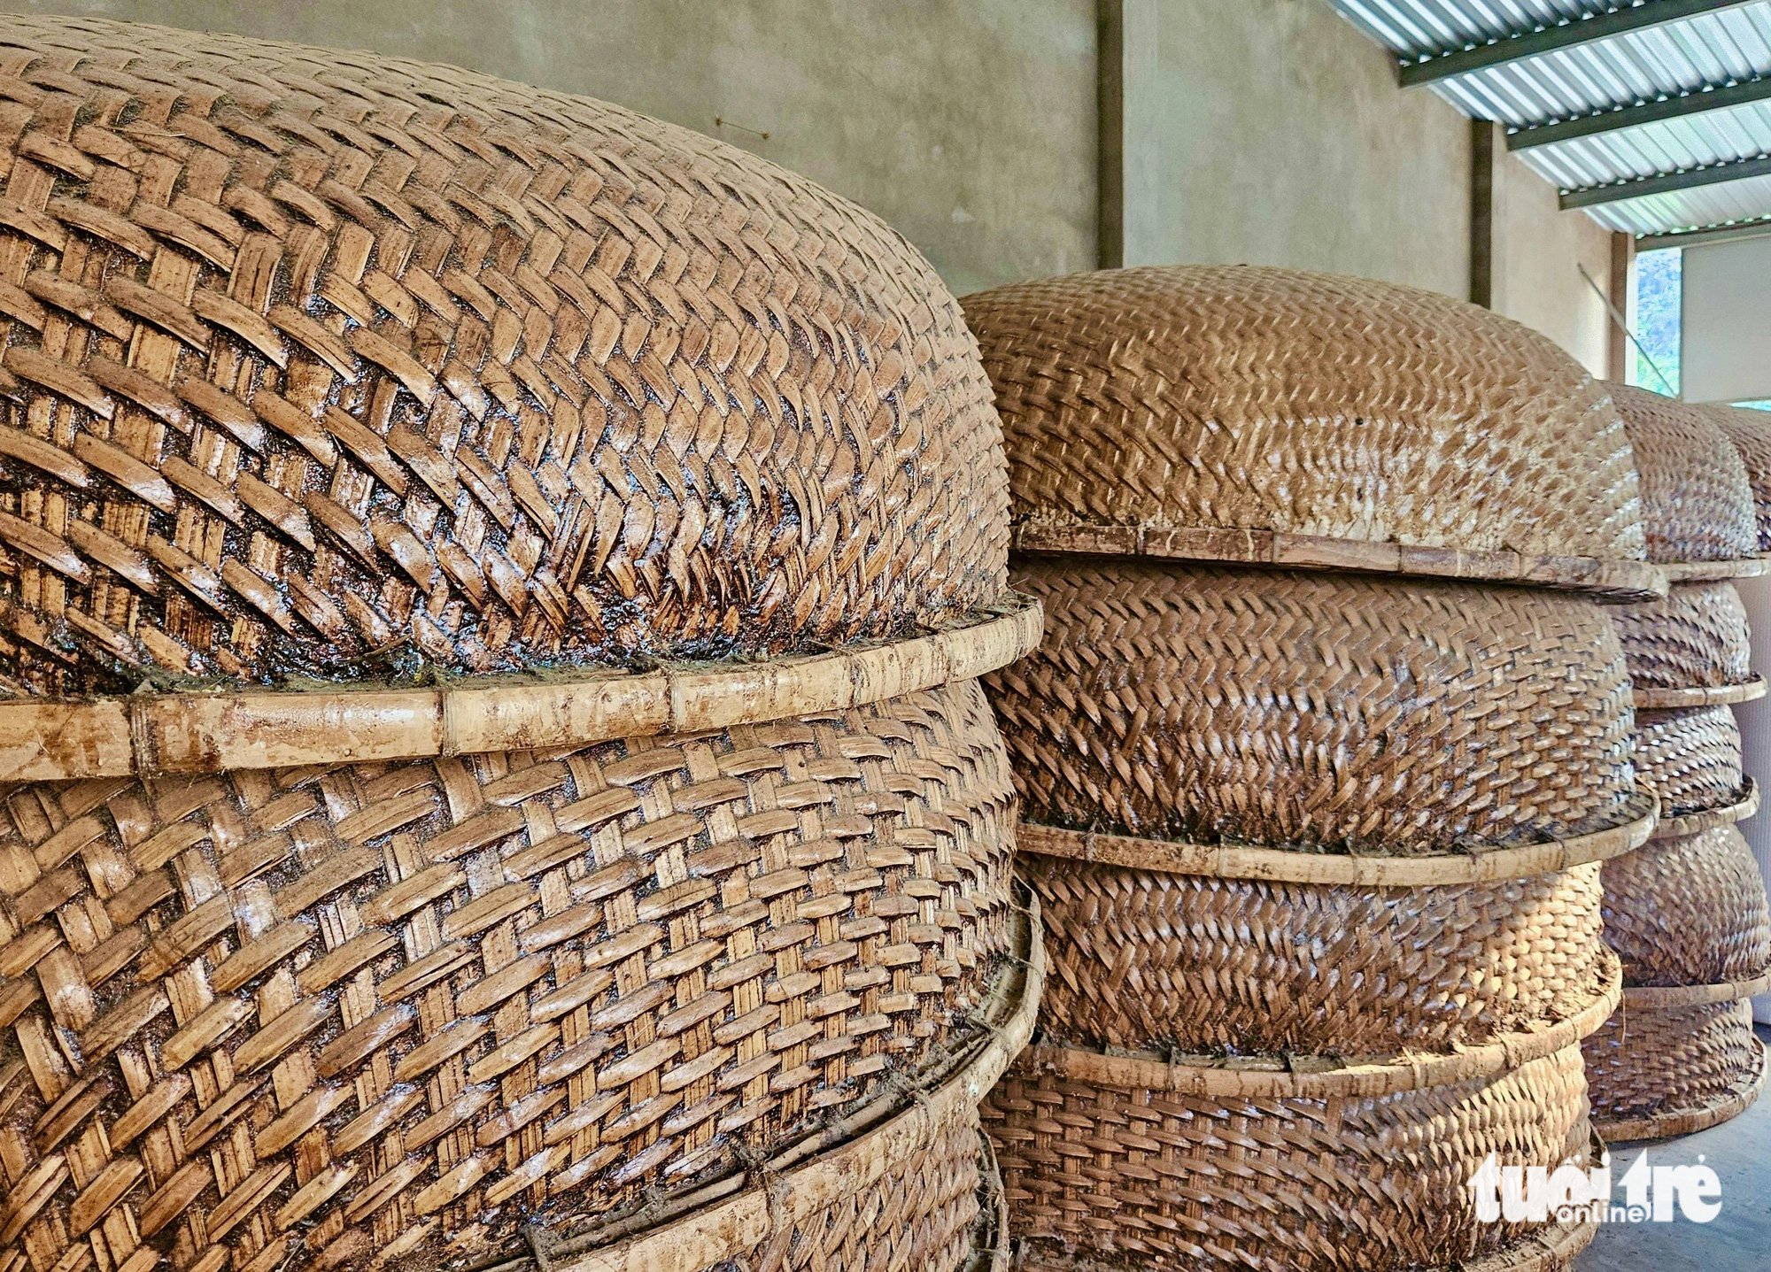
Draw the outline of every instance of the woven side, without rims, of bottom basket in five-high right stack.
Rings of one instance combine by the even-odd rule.
[[[1596,1123],[1661,1118],[1661,1134],[1668,1136],[1721,1120],[1704,1121],[1705,1109],[1737,1104],[1734,1113],[1739,1113],[1743,1097],[1757,1088],[1764,1070],[1764,1049],[1753,1035],[1753,1004],[1746,997],[1702,1006],[1624,1008],[1582,1043],[1582,1054]]]

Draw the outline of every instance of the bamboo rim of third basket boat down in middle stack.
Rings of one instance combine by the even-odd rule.
[[[1449,1054],[1410,1054],[1373,1061],[1337,1061],[1328,1056],[1291,1056],[1284,1061],[1261,1056],[1171,1056],[1116,1054],[1057,1043],[1036,1043],[1018,1066],[1057,1074],[1082,1082],[1144,1088],[1178,1095],[1210,1095],[1256,1100],[1367,1098],[1397,1091],[1420,1091],[1452,1082],[1493,1077],[1532,1059],[1576,1045],[1605,1024],[1622,999],[1622,966],[1610,950],[1601,951],[1605,989],[1574,1015],[1553,1024],[1502,1035],[1477,1047]],[[1289,1065],[1289,1066],[1288,1066]],[[1300,1068],[1300,1065],[1309,1065]],[[1316,1065],[1321,1065],[1319,1068]]]

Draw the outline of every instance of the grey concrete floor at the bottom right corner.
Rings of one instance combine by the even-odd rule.
[[[1771,1029],[1759,1026],[1771,1042]],[[1721,1178],[1721,1214],[1707,1224],[1603,1224],[1576,1272],[1766,1272],[1771,1268],[1771,1097],[1734,1121],[1656,1144],[1612,1144],[1612,1180],[1642,1148],[1656,1166],[1704,1164]],[[1613,1183],[1615,1187],[1615,1183]],[[1622,1191],[1617,1191],[1622,1196]]]

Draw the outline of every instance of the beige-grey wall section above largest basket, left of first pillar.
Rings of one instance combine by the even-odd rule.
[[[1094,266],[1094,0],[0,0],[0,11],[368,48],[616,101],[873,209],[956,292]]]

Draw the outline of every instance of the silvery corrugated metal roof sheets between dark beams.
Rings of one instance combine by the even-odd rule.
[[[1454,50],[1605,14],[1592,0],[1330,0],[1397,58]],[[1771,78],[1771,0],[1622,32],[1440,80],[1433,89],[1473,119],[1532,129],[1638,103]],[[1520,158],[1564,191],[1771,156],[1771,101],[1532,145]],[[1601,225],[1658,234],[1771,216],[1771,179],[1597,204]]]

